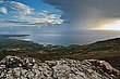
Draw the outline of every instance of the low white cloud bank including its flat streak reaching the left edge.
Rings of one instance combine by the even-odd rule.
[[[50,13],[50,12],[40,12],[36,13],[34,16],[31,15],[20,15],[15,16],[17,19],[0,19],[2,26],[38,26],[38,25],[60,25],[63,23],[63,19],[60,18],[60,15]]]

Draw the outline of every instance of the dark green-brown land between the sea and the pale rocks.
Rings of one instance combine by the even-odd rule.
[[[91,44],[43,45],[33,41],[0,39],[0,58],[7,55],[22,55],[41,61],[72,58],[72,60],[105,60],[120,69],[120,38],[97,41]]]

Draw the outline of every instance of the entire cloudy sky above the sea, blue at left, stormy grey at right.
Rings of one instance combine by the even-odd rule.
[[[94,30],[116,22],[120,0],[0,0],[1,27],[68,24],[68,30]]]

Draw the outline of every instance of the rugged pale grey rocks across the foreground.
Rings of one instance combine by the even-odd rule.
[[[43,63],[31,57],[7,56],[0,62],[0,79],[119,79],[119,74],[107,62],[97,60]]]

